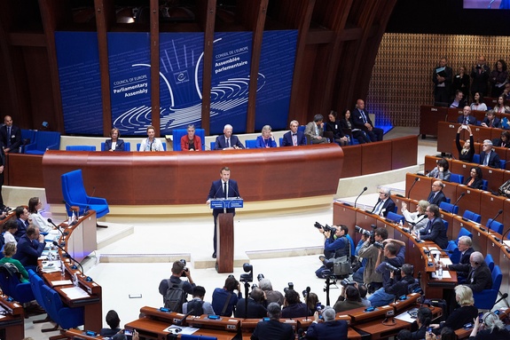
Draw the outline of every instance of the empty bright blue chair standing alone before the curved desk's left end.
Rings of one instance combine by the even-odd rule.
[[[71,206],[80,208],[80,216],[85,210],[96,210],[98,218],[105,216],[110,210],[106,199],[99,197],[91,197],[85,193],[83,186],[82,170],[74,170],[67,172],[61,176],[62,180],[62,196],[66,202],[67,214],[72,214]]]

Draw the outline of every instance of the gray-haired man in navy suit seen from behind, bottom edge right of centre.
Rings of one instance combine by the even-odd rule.
[[[306,332],[307,339],[347,340],[347,321],[334,320],[335,312],[331,307],[322,311],[324,322],[318,322],[318,312],[313,314],[314,321]]]

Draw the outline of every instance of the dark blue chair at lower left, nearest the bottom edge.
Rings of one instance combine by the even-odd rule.
[[[62,304],[59,293],[43,285],[44,308],[51,320],[63,329],[76,328],[83,324],[83,307],[66,307]]]

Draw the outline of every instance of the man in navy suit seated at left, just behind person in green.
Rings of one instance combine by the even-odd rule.
[[[37,268],[37,258],[43,254],[44,236],[39,232],[39,228],[30,225],[27,228],[27,233],[24,234],[20,241],[18,241],[18,250],[12,258],[17,259],[27,269],[33,269],[34,272]]]

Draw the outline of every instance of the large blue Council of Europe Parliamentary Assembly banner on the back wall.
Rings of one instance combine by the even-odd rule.
[[[61,33],[66,34],[67,40],[79,41],[75,38],[75,32]],[[264,32],[256,79],[257,129],[265,124],[271,124],[275,130],[286,129],[296,37],[295,30]],[[124,136],[145,135],[146,126],[152,123],[149,43],[148,33],[108,33],[112,123]],[[95,46],[97,50],[97,41]],[[221,133],[226,123],[233,125],[236,133],[246,130],[251,46],[251,32],[222,32],[215,35],[212,83],[208,93],[211,98],[211,134]],[[67,59],[71,64],[75,61],[75,65],[84,61],[82,54],[76,51],[67,51]],[[98,64],[97,52],[92,59]],[[201,100],[204,95],[202,72],[203,33],[161,33],[161,135],[185,128],[190,123],[200,128]],[[99,82],[98,72],[82,75],[84,81],[91,81],[91,77],[96,83]],[[69,80],[62,76],[60,83],[61,86],[69,86]],[[100,105],[100,83],[96,90]],[[86,96],[62,97],[63,102],[72,103],[83,110],[90,105],[87,99]],[[67,120],[70,115],[66,110],[64,115],[66,122],[70,123],[66,125],[66,131],[80,133],[82,123]],[[89,119],[88,133],[102,134],[102,115],[95,120]]]

